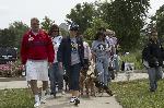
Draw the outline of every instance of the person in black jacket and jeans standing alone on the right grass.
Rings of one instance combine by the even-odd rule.
[[[150,92],[155,92],[157,88],[157,81],[162,79],[162,46],[157,40],[156,31],[151,32],[150,40],[144,52],[144,61],[148,62],[148,74],[150,81]]]

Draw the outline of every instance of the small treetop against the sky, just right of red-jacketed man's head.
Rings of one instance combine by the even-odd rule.
[[[43,29],[48,32],[52,24],[55,24],[55,21],[50,20],[48,16],[45,16],[43,19],[43,22],[40,23],[40,26],[42,26]]]

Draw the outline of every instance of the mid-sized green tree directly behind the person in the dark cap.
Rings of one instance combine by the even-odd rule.
[[[70,14],[67,14],[67,22],[78,24],[80,26],[80,33],[83,34],[87,27],[91,27],[94,12],[93,3],[78,3],[74,9],[71,9]]]

